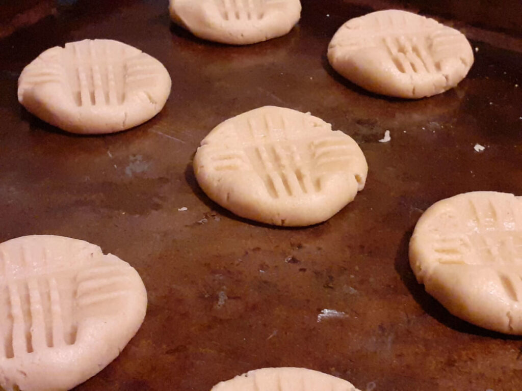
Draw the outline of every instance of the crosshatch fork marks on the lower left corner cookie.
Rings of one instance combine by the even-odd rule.
[[[30,270],[33,256],[39,257],[43,273]],[[17,267],[6,251],[0,251],[0,315],[5,320],[0,324],[0,358],[74,345],[82,311],[99,311],[100,304],[107,303],[114,310],[129,293],[121,265],[53,270],[45,251],[27,247],[21,248],[21,261]]]

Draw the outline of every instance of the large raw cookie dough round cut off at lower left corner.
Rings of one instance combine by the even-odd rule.
[[[98,246],[51,235],[0,244],[0,389],[86,381],[120,354],[146,307],[138,273]]]

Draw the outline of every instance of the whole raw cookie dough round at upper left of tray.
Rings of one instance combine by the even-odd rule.
[[[52,47],[26,66],[18,100],[40,119],[73,133],[112,133],[160,112],[167,69],[133,46],[84,40]]]

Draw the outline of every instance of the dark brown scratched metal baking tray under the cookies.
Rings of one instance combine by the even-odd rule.
[[[522,340],[448,314],[407,258],[433,202],[472,190],[522,194],[520,31],[446,13],[478,48],[475,64],[456,89],[402,101],[362,91],[325,59],[342,22],[400,3],[303,0],[290,34],[246,47],[193,38],[171,25],[164,3],[80,1],[0,41],[0,239],[85,239],[131,263],[148,288],[137,335],[77,389],[205,390],[265,366],[304,366],[363,390],[522,389]],[[163,111],[102,137],[67,135],[28,114],[16,99],[23,66],[85,38],[158,58],[173,82]],[[324,224],[255,224],[197,187],[199,141],[267,104],[312,112],[366,155],[365,189]],[[385,130],[392,140],[380,143]]]

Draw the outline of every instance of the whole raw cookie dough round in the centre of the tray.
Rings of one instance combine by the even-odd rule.
[[[207,196],[239,216],[305,226],[352,201],[368,166],[359,145],[322,119],[265,106],[214,128],[194,171]]]

